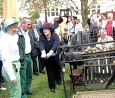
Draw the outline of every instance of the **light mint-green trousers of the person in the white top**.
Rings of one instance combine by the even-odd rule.
[[[17,83],[14,84],[13,82],[11,82],[10,77],[8,76],[4,67],[2,67],[2,75],[8,84],[10,91],[10,98],[21,98],[20,62],[14,61],[12,62],[12,64],[16,65],[16,67],[14,67],[14,74],[16,76]]]

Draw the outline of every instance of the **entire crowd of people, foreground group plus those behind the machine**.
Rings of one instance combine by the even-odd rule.
[[[112,13],[107,15],[107,19],[101,14],[93,14],[88,19],[88,26],[89,30],[85,34],[89,43],[115,39]],[[56,84],[62,84],[61,71],[66,71],[65,64],[60,64],[64,54],[59,58],[58,47],[60,44],[82,44],[84,31],[76,16],[57,17],[54,23],[43,24],[28,17],[4,20],[0,32],[0,89],[6,90],[1,86],[4,78],[10,90],[10,98],[27,98],[26,95],[33,95],[30,90],[32,74],[45,74],[45,67],[49,89],[55,92]],[[73,65],[76,69],[77,65]]]

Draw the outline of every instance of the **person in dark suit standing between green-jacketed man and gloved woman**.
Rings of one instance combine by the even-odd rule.
[[[45,72],[44,72],[44,60],[41,58],[41,53],[40,53],[40,49],[39,49],[39,44],[38,44],[38,42],[39,42],[39,36],[41,35],[41,33],[40,33],[40,31],[39,31],[39,28],[40,28],[40,26],[42,26],[42,24],[41,24],[41,21],[39,20],[38,22],[40,22],[40,23],[38,23],[39,25],[37,26],[37,20],[36,19],[32,19],[32,29],[33,29],[33,32],[34,32],[34,36],[35,36],[35,46],[34,47],[36,47],[36,56],[35,56],[35,58],[37,58],[38,57],[38,64],[39,64],[39,69],[38,69],[38,65],[37,65],[37,60],[36,59],[34,59],[34,62],[33,62],[33,72],[34,72],[34,74],[35,75],[38,75],[38,73],[42,73],[42,74],[45,74]],[[34,51],[34,50],[33,50]]]

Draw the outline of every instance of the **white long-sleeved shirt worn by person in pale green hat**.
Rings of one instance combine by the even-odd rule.
[[[8,73],[10,80],[15,80],[12,61],[19,60],[19,48],[17,45],[18,35],[15,34],[11,36],[9,34],[3,33],[0,38],[0,51],[2,54],[3,67]]]

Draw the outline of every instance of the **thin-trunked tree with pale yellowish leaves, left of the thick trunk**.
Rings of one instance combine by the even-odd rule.
[[[45,21],[47,21],[47,10],[50,7],[59,6],[62,5],[64,2],[67,2],[68,0],[19,0],[20,2],[23,2],[21,4],[20,10],[27,10],[29,15],[34,15],[32,12],[38,11],[38,17],[39,13],[44,11],[45,12]],[[32,17],[32,16],[31,16]]]

